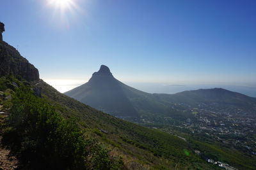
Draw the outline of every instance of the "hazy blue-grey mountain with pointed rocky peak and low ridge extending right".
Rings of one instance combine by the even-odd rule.
[[[256,98],[237,92],[215,88],[179,92],[177,94],[149,94],[125,85],[114,78],[107,66],[100,66],[92,78],[79,87],[65,92],[84,104],[106,111],[117,117],[143,117],[163,115],[189,118],[189,113],[179,115],[175,104],[197,106],[199,103],[218,103],[221,106],[238,106],[243,110],[256,108]]]

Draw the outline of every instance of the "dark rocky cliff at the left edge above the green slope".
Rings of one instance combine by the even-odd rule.
[[[0,32],[3,31],[4,24],[0,23]],[[0,76],[11,75],[27,81],[39,80],[38,69],[22,57],[13,46],[0,41]]]

